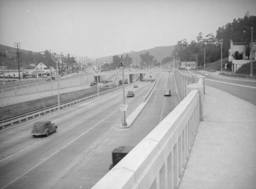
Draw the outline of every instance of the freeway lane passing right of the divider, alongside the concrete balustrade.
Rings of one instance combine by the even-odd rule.
[[[175,104],[177,105],[179,103],[174,90],[172,97],[166,97],[167,100],[170,100],[170,103],[173,101],[174,103],[170,105],[165,100],[166,104],[162,108],[163,104],[161,102],[164,100],[163,90],[166,87],[166,78],[166,75],[160,78],[158,87],[154,91],[150,102],[147,103],[131,127],[120,129],[114,126],[106,130],[102,140],[99,141],[95,149],[86,157],[87,160],[80,161],[74,169],[63,176],[52,188],[91,188],[109,171],[110,164],[112,163],[112,150],[118,146],[136,146],[150,133],[158,125],[162,109],[164,109],[164,114],[168,114],[172,111],[169,109],[170,106],[173,106],[174,109]],[[170,86],[174,86],[173,81],[171,82]],[[173,100],[171,100],[172,98]]]

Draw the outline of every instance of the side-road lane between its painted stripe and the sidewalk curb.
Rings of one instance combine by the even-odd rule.
[[[237,98],[256,105],[256,88],[246,86],[231,85],[228,83],[220,83],[215,81],[205,80],[205,85],[223,90]],[[206,91],[207,92],[207,91]]]

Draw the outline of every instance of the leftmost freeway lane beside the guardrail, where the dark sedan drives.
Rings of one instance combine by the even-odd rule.
[[[150,83],[147,83],[150,84]],[[140,90],[143,90],[144,86],[147,85],[142,83],[140,85],[140,88],[136,88],[134,91],[135,93],[140,92]],[[131,86],[126,89],[133,89]],[[109,96],[109,97],[108,97]],[[64,127],[68,127],[69,125],[74,124],[74,119],[71,119],[70,117],[73,116],[73,114],[84,116],[90,112],[93,112],[93,109],[96,106],[101,106],[103,101],[106,101],[105,98],[109,98],[107,101],[113,102],[116,101],[118,98],[122,97],[122,90],[119,89],[117,92],[114,92],[110,95],[100,96],[98,98],[95,98],[91,101],[88,101],[87,103],[79,104],[78,106],[72,106],[70,108],[62,109],[61,115],[59,114],[60,111],[54,112],[52,114],[48,115],[48,119],[46,117],[42,117],[40,119],[35,119],[33,121],[26,122],[24,124],[20,124],[19,126],[6,129],[0,132],[0,151],[2,152],[2,158],[6,158],[20,150],[23,150],[24,147],[29,147],[30,145],[33,145],[35,143],[35,139],[31,138],[31,130],[33,127],[33,124],[36,121],[43,121],[43,120],[50,120],[56,125],[58,125],[58,131],[63,129]],[[138,99],[138,98],[136,98]],[[141,100],[142,101],[142,100]],[[122,104],[122,102],[120,102]],[[108,106],[108,105],[106,105]],[[86,113],[85,113],[86,112]],[[2,145],[1,145],[2,144]],[[15,146],[14,148],[10,148],[10,146]],[[20,148],[18,148],[20,147]],[[8,152],[9,151],[9,152]],[[1,160],[1,159],[0,159]]]

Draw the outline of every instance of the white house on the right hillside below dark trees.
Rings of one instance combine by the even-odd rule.
[[[228,61],[232,62],[232,72],[237,72],[237,70],[245,63],[250,62],[251,56],[252,59],[255,60],[255,48],[256,42],[252,43],[252,53],[250,53],[249,57],[246,56],[246,43],[245,42],[233,42],[230,40],[230,49],[228,51]],[[251,46],[251,43],[249,44]],[[242,60],[236,60],[236,52],[238,52],[242,56]]]

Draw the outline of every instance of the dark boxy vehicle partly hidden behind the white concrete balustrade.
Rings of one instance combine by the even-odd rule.
[[[109,170],[111,170],[124,156],[126,156],[134,147],[132,146],[119,146],[112,151],[112,164]]]

